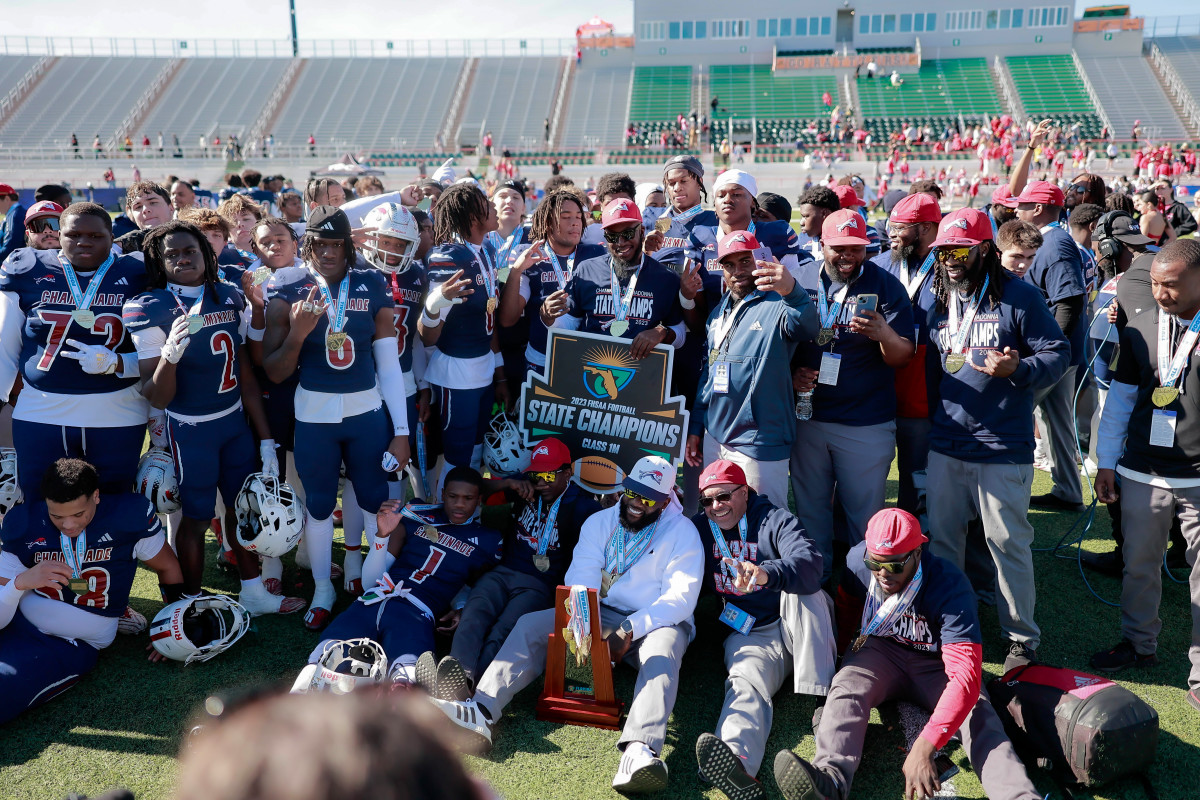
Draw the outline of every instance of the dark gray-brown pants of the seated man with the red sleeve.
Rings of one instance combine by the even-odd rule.
[[[931,711],[946,691],[946,667],[937,655],[870,637],[862,650],[847,654],[834,675],[817,728],[817,754],[812,765],[829,774],[844,800],[850,795],[850,784],[863,758],[863,739],[871,709],[887,700],[904,699]],[[979,696],[960,732],[971,766],[991,800],[1038,800],[1042,796],[985,696]]]

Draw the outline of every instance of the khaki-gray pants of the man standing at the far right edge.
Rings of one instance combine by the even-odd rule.
[[[1192,564],[1192,674],[1188,687],[1200,687],[1200,487],[1163,489],[1128,476],[1121,477],[1121,529],[1124,540],[1124,576],[1121,581],[1121,636],[1141,654],[1158,649],[1163,620],[1163,553],[1174,518],[1178,516]]]

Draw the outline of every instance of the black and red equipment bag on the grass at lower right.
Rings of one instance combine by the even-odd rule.
[[[1096,786],[1145,774],[1158,745],[1158,712],[1106,678],[1030,664],[988,684],[992,705],[1026,764]]]

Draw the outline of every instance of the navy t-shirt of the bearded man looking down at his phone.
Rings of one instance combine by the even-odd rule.
[[[827,297],[829,294],[836,296],[842,285],[832,283],[824,269],[821,270],[818,283]],[[833,287],[836,288],[830,291]],[[805,290],[820,313],[817,289],[805,287]],[[854,318],[860,294],[878,295],[877,311],[883,314],[892,330],[912,342],[912,303],[908,302],[904,287],[871,261],[864,261],[838,312],[833,341],[824,347],[820,347],[816,341],[800,342],[796,349],[793,363],[812,369],[821,368],[822,353],[832,351],[841,356],[838,385],[818,383],[812,393],[812,419],[818,422],[865,426],[890,422],[896,417],[895,371],[883,362],[878,342],[850,330],[850,320]],[[829,308],[833,308],[833,301]]]

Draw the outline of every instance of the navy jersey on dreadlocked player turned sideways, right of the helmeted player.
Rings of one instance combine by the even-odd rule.
[[[484,283],[484,259],[494,258],[491,248],[480,247],[476,254],[468,245],[438,245],[425,257],[430,291],[449,281],[462,270],[464,278],[474,283],[474,293],[457,306],[443,311],[443,331],[438,337],[438,350],[454,359],[478,359],[492,351],[492,332],[496,330],[496,312],[487,311],[487,285]],[[499,287],[494,289],[499,291]],[[496,295],[497,301],[499,294]]]

